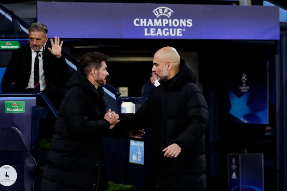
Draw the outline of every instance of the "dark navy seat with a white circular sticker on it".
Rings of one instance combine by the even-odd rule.
[[[15,127],[0,127],[0,190],[33,191],[35,170],[36,162],[21,132]]]

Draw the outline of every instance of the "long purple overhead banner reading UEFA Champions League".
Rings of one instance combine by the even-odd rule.
[[[280,39],[279,7],[78,2],[37,5],[38,21],[47,25],[51,37]]]

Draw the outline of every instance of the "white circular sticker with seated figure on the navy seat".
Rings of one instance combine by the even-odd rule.
[[[10,165],[0,167],[0,184],[3,186],[11,186],[16,182],[17,172],[15,168]]]

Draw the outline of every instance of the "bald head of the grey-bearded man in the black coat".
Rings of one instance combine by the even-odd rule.
[[[177,50],[166,46],[154,54],[154,67],[152,71],[157,75],[159,81],[166,81],[179,72],[180,56]]]

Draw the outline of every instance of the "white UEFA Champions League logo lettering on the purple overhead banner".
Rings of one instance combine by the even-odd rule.
[[[169,7],[157,7],[152,11],[156,19],[136,18],[133,25],[144,27],[144,36],[183,36],[192,19],[170,19],[174,11]]]

